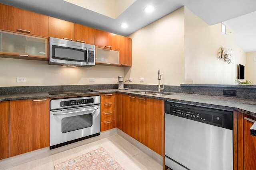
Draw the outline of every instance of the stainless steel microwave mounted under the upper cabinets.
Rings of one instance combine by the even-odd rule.
[[[49,37],[49,64],[94,66],[95,45]]]

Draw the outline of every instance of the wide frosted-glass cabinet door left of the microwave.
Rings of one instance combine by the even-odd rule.
[[[1,57],[48,60],[47,45],[47,38],[0,30]]]

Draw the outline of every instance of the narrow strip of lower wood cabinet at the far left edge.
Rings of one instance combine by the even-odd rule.
[[[9,101],[0,102],[0,160],[10,157]]]

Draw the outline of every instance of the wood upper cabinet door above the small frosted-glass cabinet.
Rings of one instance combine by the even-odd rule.
[[[120,35],[95,29],[95,45],[108,49],[120,49]]]

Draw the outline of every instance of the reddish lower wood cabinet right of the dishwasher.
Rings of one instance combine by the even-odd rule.
[[[238,112],[238,170],[256,169],[256,136],[250,135],[253,121],[256,117]]]

